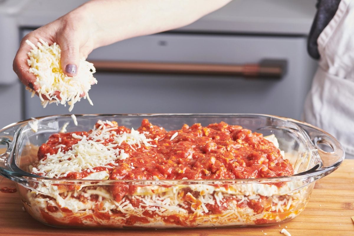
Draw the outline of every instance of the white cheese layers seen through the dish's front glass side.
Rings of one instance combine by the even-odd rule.
[[[98,172],[99,173],[99,172]],[[102,177],[107,173],[102,172]],[[99,174],[101,175],[101,173]],[[90,178],[90,177],[88,177]],[[92,179],[92,178],[90,178]],[[164,217],[171,214],[181,215],[182,218],[188,219],[192,218],[193,220],[200,221],[199,223],[205,225],[205,221],[211,223],[210,220],[214,219],[215,224],[225,225],[230,224],[230,219],[233,219],[232,225],[243,225],[244,223],[249,224],[250,222],[245,222],[245,220],[262,219],[263,217],[270,217],[270,219],[276,219],[279,214],[285,214],[284,212],[291,212],[294,208],[299,207],[301,202],[303,202],[302,194],[304,190],[296,190],[293,194],[290,195],[273,195],[267,197],[267,201],[272,202],[272,207],[264,211],[262,214],[256,214],[253,212],[253,209],[244,207],[238,207],[238,204],[251,200],[258,201],[260,195],[251,195],[245,196],[242,194],[229,194],[224,192],[221,188],[213,188],[210,185],[174,185],[169,188],[164,188],[165,191],[156,193],[155,189],[160,188],[158,185],[147,185],[147,186],[138,186],[138,189],[133,194],[128,194],[122,198],[120,202],[114,200],[112,192],[109,190],[109,186],[89,186],[81,185],[82,189],[77,189],[68,192],[60,192],[58,187],[55,185],[46,186],[45,184],[40,184],[37,191],[29,193],[29,199],[33,206],[38,206],[42,209],[46,209],[47,205],[59,206],[68,208],[73,213],[81,214],[89,213],[92,209],[95,208],[95,205],[92,205],[92,201],[80,201],[77,196],[83,196],[87,199],[90,199],[92,194],[99,196],[99,202],[101,206],[104,206],[101,212],[111,212],[113,210],[118,210],[125,215],[120,215],[120,219],[129,218],[131,215],[136,215],[144,217],[143,213],[145,211],[151,211],[156,213],[157,218],[152,218],[152,222],[158,222],[158,217]],[[195,188],[193,188],[195,186]],[[148,190],[147,192],[141,190]],[[194,195],[188,192],[185,194],[185,190],[190,189],[194,191]],[[199,194],[197,194],[199,192]],[[191,203],[189,209],[193,211],[192,214],[188,213],[187,205],[183,196],[185,195],[185,200]],[[53,201],[47,201],[47,197],[50,196],[53,198]],[[75,198],[71,197],[75,196]],[[232,201],[226,199],[232,198]],[[138,200],[141,202],[139,206],[132,206],[130,200]],[[211,214],[207,208],[207,205],[217,205],[224,206],[228,209],[225,209],[220,214]],[[289,206],[289,207],[288,207]],[[304,206],[301,206],[304,207]],[[276,212],[276,213],[275,213]],[[51,213],[50,213],[51,214]],[[110,213],[112,214],[112,213]],[[242,214],[242,216],[241,216]],[[205,216],[205,217],[203,217]],[[289,217],[295,217],[295,215],[289,215]],[[111,218],[113,220],[114,218]],[[239,222],[234,219],[239,219]],[[276,219],[281,221],[281,219]],[[108,222],[109,225],[112,225],[112,221]]]

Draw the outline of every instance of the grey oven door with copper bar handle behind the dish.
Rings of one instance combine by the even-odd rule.
[[[250,76],[250,67],[242,66],[265,58],[286,62],[286,73],[283,67],[279,74]],[[98,48],[87,60],[98,66],[98,84],[89,92],[94,105],[81,100],[76,114],[262,113],[299,119],[315,68],[302,36],[161,33]],[[159,63],[175,68],[161,70]],[[204,71],[193,65],[204,65]],[[43,109],[28,92],[24,101],[26,117],[69,113],[63,105]]]

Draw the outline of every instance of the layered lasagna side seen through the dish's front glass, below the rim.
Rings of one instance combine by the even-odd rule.
[[[35,209],[42,221],[51,219],[50,222],[59,225],[203,227],[281,222],[295,217],[307,202],[303,199],[307,188],[289,189],[284,195],[269,192],[269,196],[263,196],[253,192],[247,196],[234,186],[230,184],[228,189],[202,184],[144,186],[125,195],[120,202],[113,199],[109,186],[85,186],[63,193],[55,186],[45,186],[46,194],[28,193],[32,209],[27,209]],[[262,202],[262,209],[252,209],[251,202]],[[223,210],[215,212],[215,207]]]

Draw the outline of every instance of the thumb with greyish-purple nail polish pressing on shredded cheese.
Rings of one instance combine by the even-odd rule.
[[[58,40],[61,47],[61,65],[64,74],[73,77],[78,74],[80,55],[79,44],[75,40],[63,39]]]

